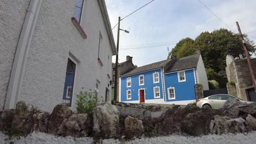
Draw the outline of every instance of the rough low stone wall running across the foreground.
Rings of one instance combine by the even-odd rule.
[[[130,113],[126,113],[128,109]],[[139,116],[141,113],[144,115]],[[161,113],[161,115],[160,115]],[[139,115],[138,115],[139,114]],[[7,135],[26,136],[40,131],[56,136],[94,137],[94,139],[133,139],[176,135],[244,133],[256,130],[256,103],[226,101],[223,109],[201,109],[188,104],[160,105],[104,103],[91,113],[72,112],[65,104],[52,113],[40,111],[20,101],[16,109],[0,111],[0,131]]]

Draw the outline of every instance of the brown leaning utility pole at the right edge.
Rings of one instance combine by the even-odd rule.
[[[256,92],[255,77],[254,77],[254,71],[253,71],[253,68],[252,68],[250,55],[249,55],[249,52],[247,51],[247,48],[246,48],[246,45],[245,45],[245,39],[243,39],[243,35],[242,35],[242,32],[241,32],[241,29],[240,29],[240,26],[239,26],[238,22],[236,22],[236,26],[237,26],[237,29],[238,29],[238,32],[239,32],[239,35],[240,35],[240,39],[242,40],[243,50],[245,51],[248,66],[249,66],[249,70],[250,70],[250,73],[251,73],[251,76],[252,76],[254,91]]]

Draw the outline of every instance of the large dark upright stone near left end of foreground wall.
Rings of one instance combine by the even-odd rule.
[[[33,115],[36,113],[33,105],[19,101],[11,122],[11,129],[17,133],[30,134],[33,130]]]

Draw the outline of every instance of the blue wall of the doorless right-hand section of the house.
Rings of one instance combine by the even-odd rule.
[[[194,100],[195,96],[195,78],[194,70],[185,71],[186,81],[178,82],[178,73],[165,74],[165,89],[166,89],[166,100],[167,101],[179,101],[179,100]],[[174,87],[175,98],[168,99],[167,88]]]

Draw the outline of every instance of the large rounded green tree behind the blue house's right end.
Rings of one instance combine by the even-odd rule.
[[[253,41],[244,35],[250,52],[255,51]],[[220,28],[213,32],[202,32],[196,39],[195,44],[199,46],[203,62],[206,68],[212,68],[218,72],[225,70],[226,55],[237,57],[243,53],[241,40],[237,34]]]

